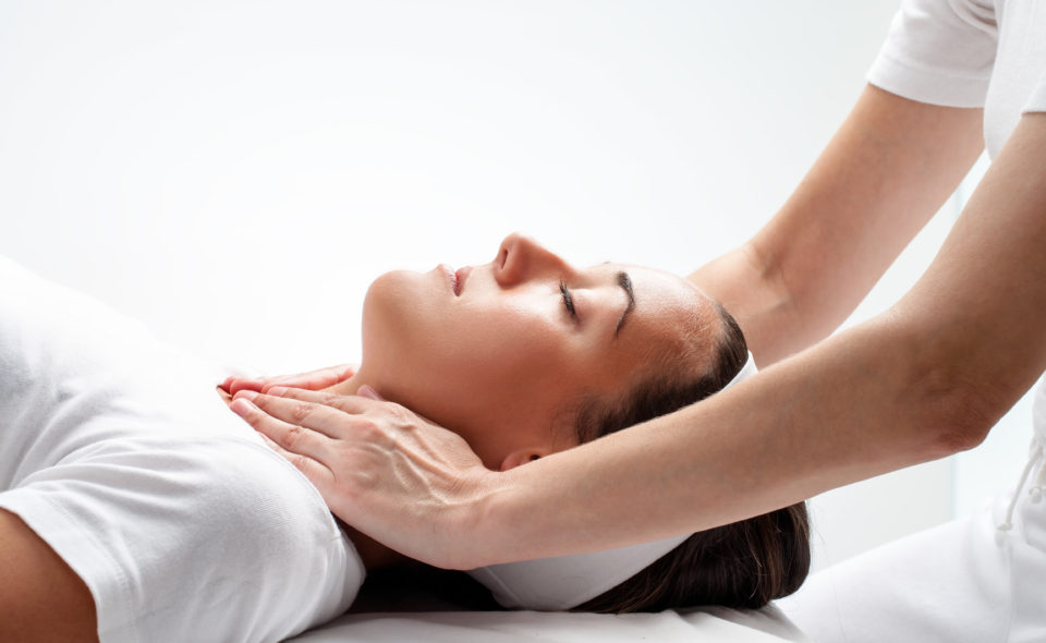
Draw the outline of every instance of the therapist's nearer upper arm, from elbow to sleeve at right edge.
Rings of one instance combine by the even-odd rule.
[[[959,448],[975,446],[1046,369],[1046,113],[1024,114],[940,252],[890,311],[953,391]],[[968,420],[969,417],[969,420]]]

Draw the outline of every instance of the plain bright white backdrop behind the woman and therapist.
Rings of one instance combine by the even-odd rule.
[[[354,361],[374,277],[489,260],[513,230],[686,274],[787,198],[896,4],[5,1],[0,253],[269,373]],[[1015,477],[1023,413],[958,462],[816,499],[816,563]]]

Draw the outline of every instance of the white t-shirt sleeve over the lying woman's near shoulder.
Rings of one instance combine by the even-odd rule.
[[[352,603],[363,566],[304,476],[229,439],[109,440],[0,492],[83,579],[102,642],[279,641]]]

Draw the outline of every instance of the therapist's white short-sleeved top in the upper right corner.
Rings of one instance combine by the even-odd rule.
[[[983,107],[995,158],[1023,112],[1046,111],[1046,2],[905,0],[868,81],[912,100]]]

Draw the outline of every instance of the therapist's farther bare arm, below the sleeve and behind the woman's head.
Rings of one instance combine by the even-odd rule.
[[[738,319],[761,367],[853,312],[981,153],[981,113],[867,86],[780,211],[690,276]]]

